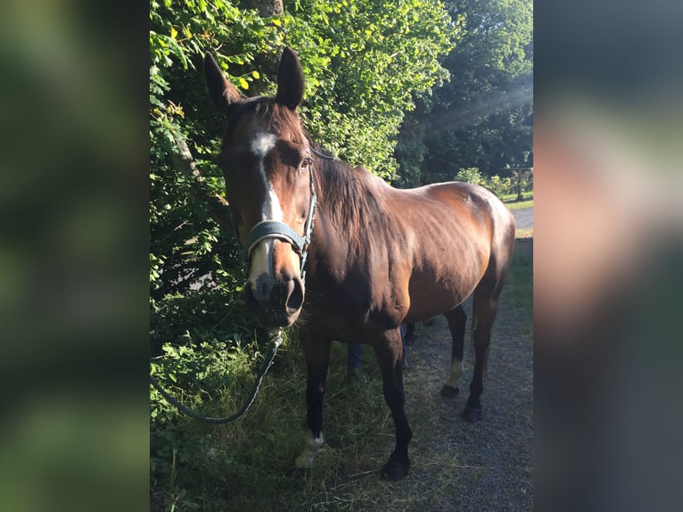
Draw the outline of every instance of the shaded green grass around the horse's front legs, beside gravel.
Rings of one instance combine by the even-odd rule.
[[[235,423],[211,426],[177,417],[177,428],[169,430],[168,464],[158,464],[166,470],[152,473],[152,510],[357,508],[351,491],[377,480],[393,445],[393,421],[374,357],[367,351],[363,360],[368,378],[347,384],[346,346],[333,344],[325,445],[315,466],[300,471],[293,460],[303,447],[306,373],[296,345],[289,340],[281,348],[254,405]],[[240,400],[226,392],[212,414],[224,416]]]

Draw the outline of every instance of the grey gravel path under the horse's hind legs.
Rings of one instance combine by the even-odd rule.
[[[531,311],[523,318],[506,304],[505,291],[491,340],[488,374],[481,395],[483,419],[471,425],[460,419],[472,365],[465,349],[465,376],[455,401],[439,390],[448,376],[450,334],[446,319],[416,326],[416,343],[408,347],[405,374],[406,412],[413,425],[411,486],[424,485],[432,497],[420,510],[531,510],[533,504],[533,396]],[[469,343],[469,301],[465,343]],[[468,347],[469,348],[469,347]],[[444,467],[444,453],[454,458]],[[430,467],[430,458],[440,459]],[[457,484],[431,489],[434,472],[448,472]],[[412,509],[410,507],[406,508]]]

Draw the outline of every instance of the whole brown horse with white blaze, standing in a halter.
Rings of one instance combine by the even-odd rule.
[[[211,99],[227,116],[218,163],[247,260],[247,306],[266,328],[300,318],[309,433],[297,465],[309,466],[323,443],[331,343],[362,342],[379,361],[396,425],[396,446],[382,475],[399,480],[410,467],[412,437],[403,408],[399,326],[438,314],[448,318],[452,363],[441,393],[455,397],[465,338],[461,304],[473,294],[475,364],[463,418],[479,420],[491,325],[512,260],[513,216],[480,186],[398,190],[362,167],[319,153],[297,114],[304,78],[289,48],[275,97],[243,97],[210,54],[204,74]]]

